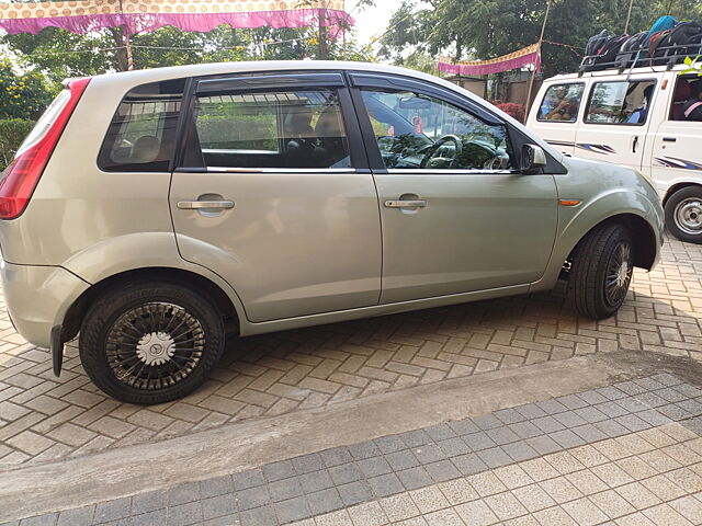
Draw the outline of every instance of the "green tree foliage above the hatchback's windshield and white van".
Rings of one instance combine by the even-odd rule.
[[[489,59],[539,41],[547,0],[405,0],[390,19],[381,54],[405,62],[408,47],[456,59]],[[544,44],[545,75],[574,70],[588,38],[607,28],[623,33],[630,0],[553,0]],[[690,20],[701,0],[634,0],[629,33],[650,27],[663,14]],[[573,47],[567,47],[573,46]],[[410,55],[411,56],[411,55]]]

